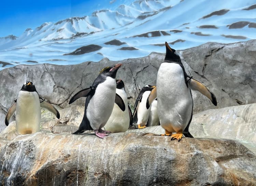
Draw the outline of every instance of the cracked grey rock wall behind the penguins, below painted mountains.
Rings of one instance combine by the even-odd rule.
[[[187,73],[207,85],[217,98],[218,106],[215,107],[207,98],[193,91],[194,113],[256,102],[256,40],[234,44],[206,43],[179,51],[179,54]],[[0,130],[5,127],[4,116],[26,80],[35,84],[43,98],[67,108],[70,97],[89,87],[103,67],[123,63],[117,78],[125,82],[128,102],[133,107],[140,89],[146,84],[156,84],[163,59],[164,54],[152,53],[144,58],[118,62],[104,58],[99,62],[78,65],[19,65],[3,69],[0,71]],[[84,104],[84,99],[73,104]]]

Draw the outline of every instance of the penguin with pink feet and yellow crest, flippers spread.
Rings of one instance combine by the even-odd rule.
[[[73,134],[83,133],[85,130],[94,130],[97,137],[102,138],[110,131],[102,130],[108,121],[114,103],[117,103],[122,111],[125,111],[125,104],[122,98],[116,94],[116,72],[122,64],[114,67],[106,67],[89,88],[77,92],[69,101],[73,103],[76,99],[87,97],[85,101],[84,117],[79,129]]]

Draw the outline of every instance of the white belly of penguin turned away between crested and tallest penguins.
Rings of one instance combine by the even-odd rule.
[[[145,91],[143,93],[141,102],[138,105],[138,109],[137,109],[138,121],[137,121],[137,124],[138,125],[140,124],[141,126],[145,126],[147,124],[147,120],[148,120],[148,117],[150,115],[151,105],[150,105],[149,109],[146,108],[146,102],[147,102],[148,96],[150,95],[150,92],[151,91]]]

